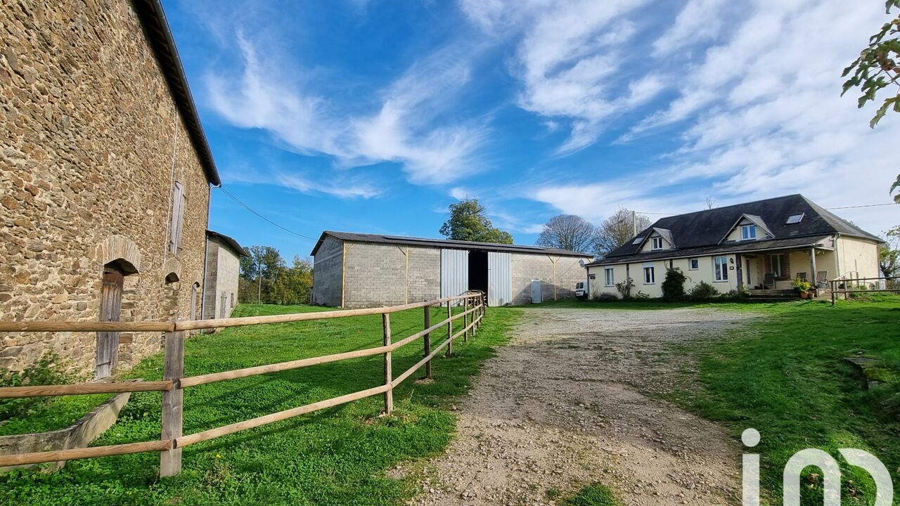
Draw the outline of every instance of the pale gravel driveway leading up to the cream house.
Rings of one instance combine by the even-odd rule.
[[[738,443],[646,393],[671,388],[682,365],[660,353],[667,345],[748,317],[527,309],[460,403],[458,437],[428,463],[413,504],[554,504],[556,491],[595,482],[627,504],[740,503]]]

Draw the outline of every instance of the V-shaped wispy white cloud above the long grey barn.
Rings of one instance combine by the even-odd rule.
[[[338,167],[397,162],[416,184],[453,182],[479,169],[476,152],[487,133],[481,122],[442,118],[442,126],[433,126],[469,83],[475,48],[438,50],[419,59],[376,94],[381,105],[374,113],[345,111],[341,104],[307,91],[285,76],[287,62],[272,52],[264,58],[243,36],[238,37],[238,48],[243,59],[238,78],[212,72],[206,76],[212,108],[231,124],[269,131],[290,149],[328,155]]]

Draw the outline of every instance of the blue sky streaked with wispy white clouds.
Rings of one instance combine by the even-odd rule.
[[[224,187],[310,237],[438,237],[465,196],[523,244],[563,212],[890,202],[900,117],[869,130],[839,96],[883,2],[163,4]],[[219,190],[210,226],[288,259],[314,245]]]

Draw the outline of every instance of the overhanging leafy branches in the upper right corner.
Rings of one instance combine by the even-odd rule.
[[[887,0],[885,11],[891,14],[891,9],[900,9],[900,0]],[[847,93],[852,87],[859,86],[860,98],[857,106],[860,109],[870,100],[874,101],[878,92],[887,86],[891,86],[890,92],[884,102],[878,107],[875,116],[869,122],[870,128],[875,125],[887,113],[888,108],[893,108],[895,113],[900,113],[900,15],[885,23],[881,31],[869,37],[869,45],[860,52],[860,58],[855,59],[850,67],[844,68],[842,77],[853,73],[852,77],[844,82],[841,95]],[[892,95],[893,94],[893,95]],[[890,193],[900,189],[900,174],[891,185]],[[894,202],[900,203],[900,193],[894,195]]]

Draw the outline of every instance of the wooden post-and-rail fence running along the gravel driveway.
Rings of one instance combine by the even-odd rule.
[[[447,318],[436,324],[431,324],[431,308],[434,306],[446,306]],[[453,314],[452,306],[461,305],[462,311]],[[166,332],[165,356],[163,360],[162,381],[148,382],[118,382],[118,383],[92,383],[92,384],[54,384],[40,386],[14,386],[0,388],[0,398],[13,397],[42,397],[49,395],[80,395],[88,393],[122,393],[122,392],[162,392],[162,437],[158,441],[144,441],[123,445],[108,445],[103,447],[72,448],[57,451],[36,452],[9,456],[0,456],[0,466],[29,465],[43,462],[58,462],[88,458],[94,456],[125,455],[140,452],[160,452],[159,474],[171,476],[181,472],[181,449],[193,443],[220,438],[241,430],[253,429],[275,421],[286,420],[295,416],[319,411],[338,404],[356,401],[372,395],[384,396],[384,412],[393,411],[393,389],[398,384],[415,373],[421,366],[425,366],[425,377],[431,378],[431,359],[436,357],[443,348],[446,348],[446,356],[453,353],[453,341],[462,337],[468,340],[474,335],[484,318],[486,296],[481,292],[469,292],[455,297],[446,297],[423,303],[409,303],[399,306],[342,310],[334,312],[305,312],[293,314],[280,314],[273,316],[253,316],[246,318],[230,318],[216,320],[196,321],[4,321],[0,322],[0,331],[5,332],[68,332],[68,331],[162,331]],[[424,328],[411,336],[393,342],[391,334],[391,314],[394,312],[408,311],[423,308]],[[222,329],[226,327],[243,327],[247,325],[260,325],[270,323],[287,323],[293,321],[328,320],[332,318],[347,318],[353,316],[365,316],[381,314],[383,321],[383,346],[377,348],[365,348],[346,353],[337,353],[322,357],[303,358],[290,362],[281,362],[267,366],[247,367],[213,373],[209,375],[195,375],[184,377],[184,331],[200,329]],[[462,329],[454,333],[454,321],[463,319]],[[431,332],[446,325],[447,338],[436,348],[431,348]],[[417,339],[423,340],[423,357],[419,362],[404,371],[401,375],[393,376],[392,351],[406,346]],[[235,378],[252,375],[265,375],[278,371],[287,371],[300,367],[328,364],[350,358],[370,357],[374,355],[384,356],[384,382],[373,388],[360,390],[355,393],[347,393],[320,402],[312,402],[290,410],[260,416],[251,420],[239,421],[216,429],[204,430],[195,434],[184,435],[182,433],[182,410],[184,406],[184,389],[201,384],[210,384]]]

